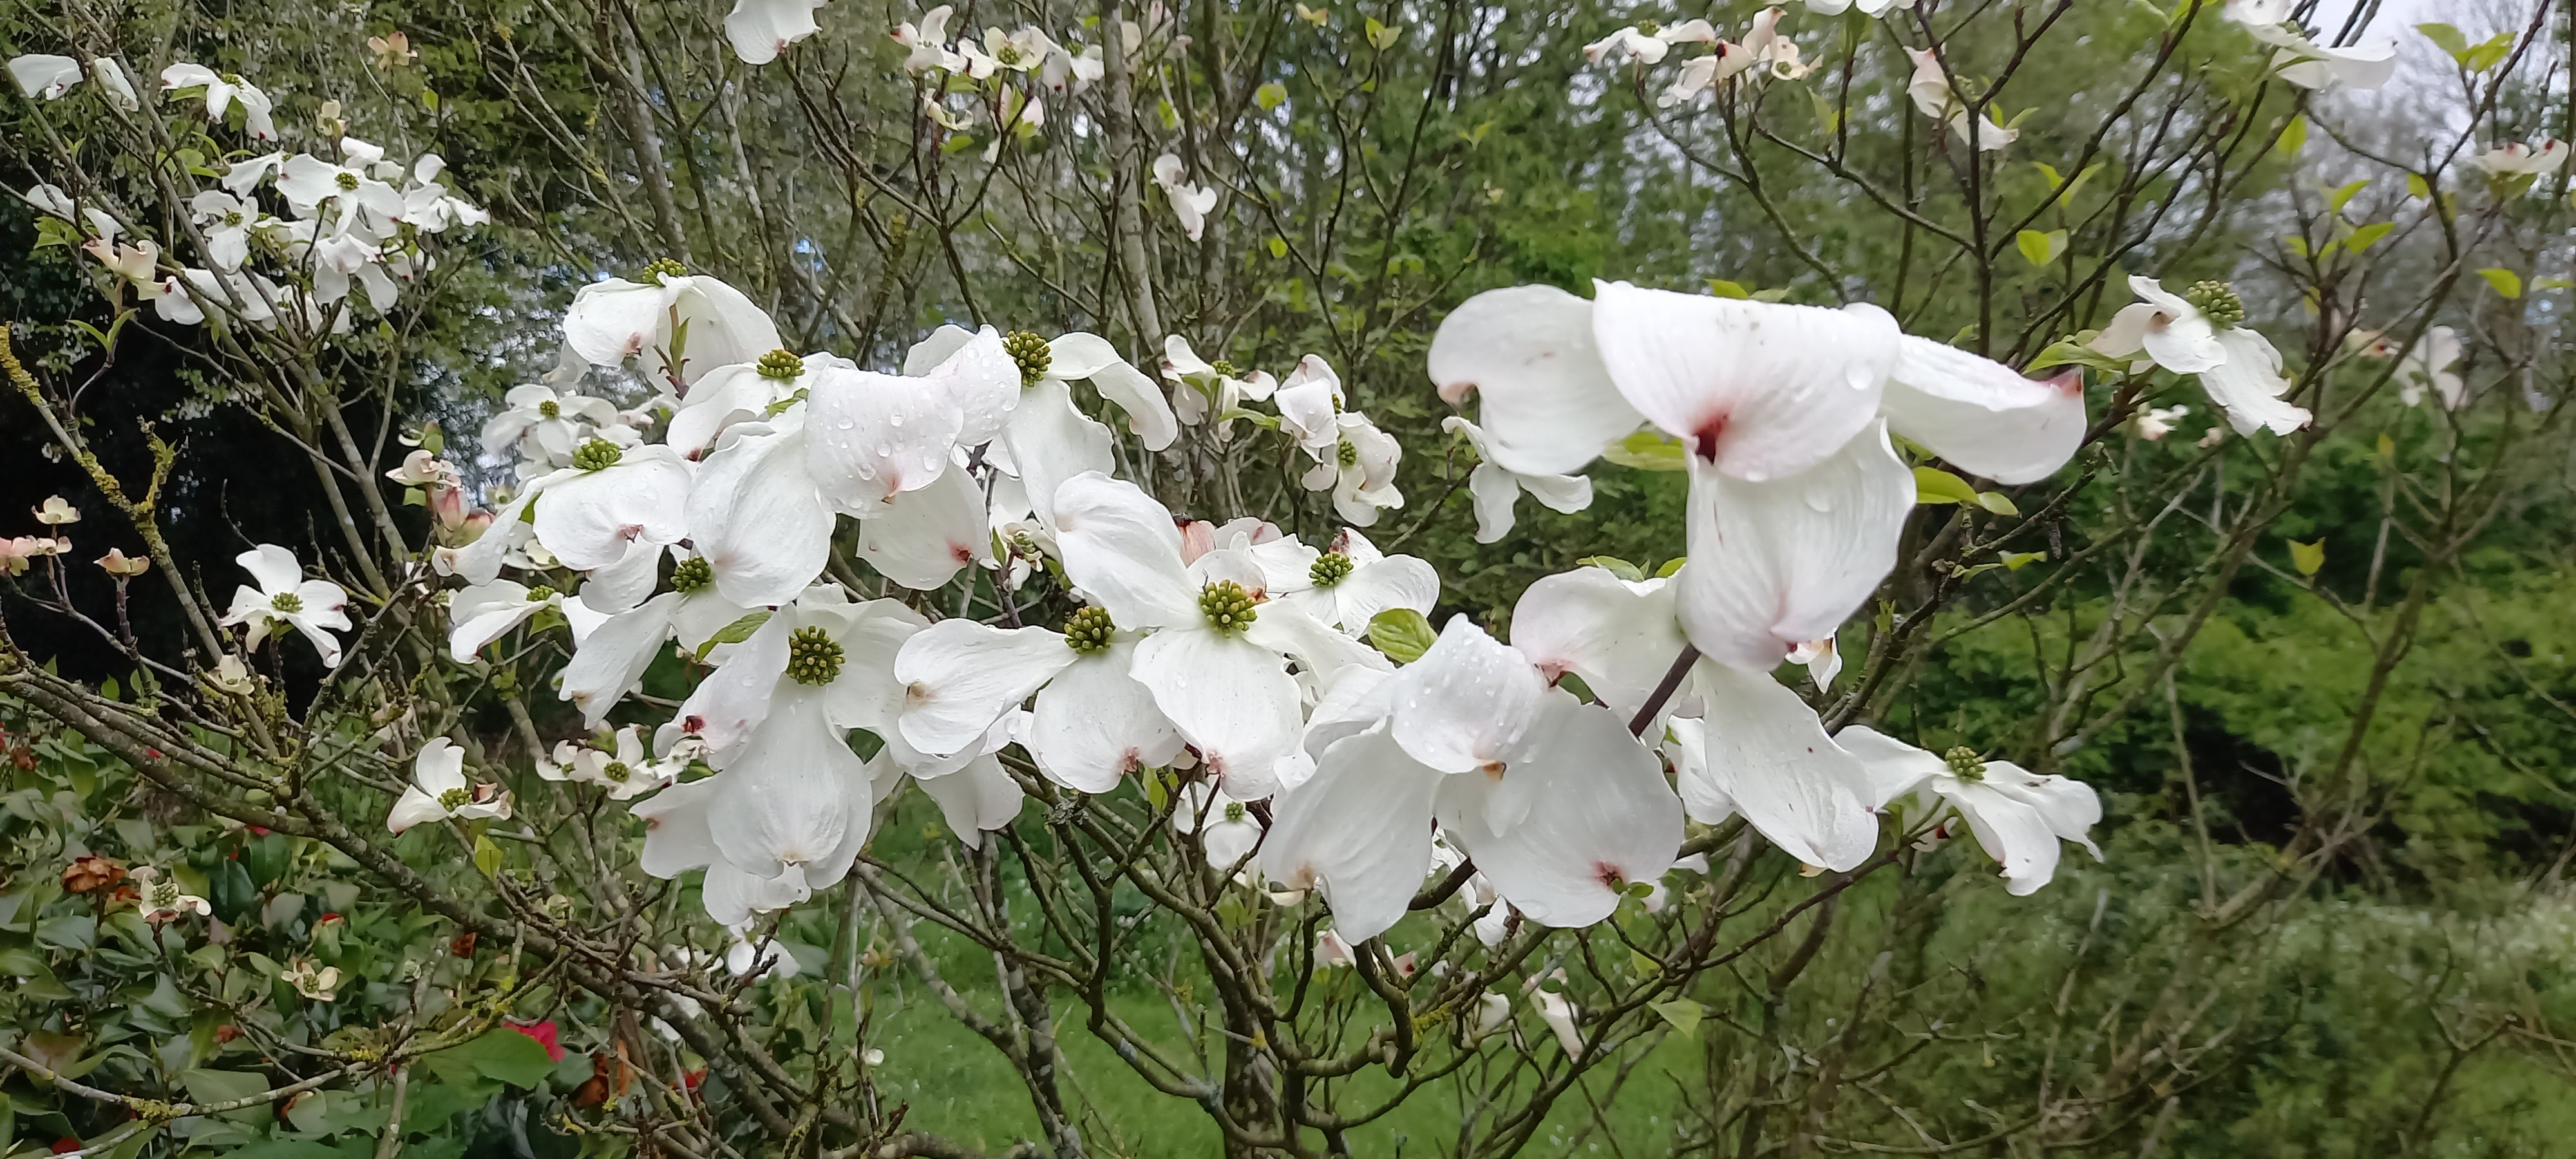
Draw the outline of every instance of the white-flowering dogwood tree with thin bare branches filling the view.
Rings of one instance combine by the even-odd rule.
[[[2334,93],[2391,82],[2393,33],[2287,0],[1546,33],[1497,8],[574,8],[371,28],[309,90],[90,5],[21,36],[41,170],[13,193],[116,325],[72,376],[26,343],[0,361],[44,471],[142,554],[95,564],[103,613],[72,582],[80,513],[39,513],[10,623],[90,631],[126,683],[10,644],[0,693],[222,840],[291,842],[250,909],[229,868],[222,917],[173,868],[90,927],[118,984],[167,974],[173,1010],[247,1035],[255,1084],[173,1079],[224,1043],[88,1059],[77,1017],[0,1046],[90,1102],[64,1110],[82,1151],[276,1138],[219,1118],[276,1102],[386,1156],[435,1131],[407,1107],[544,1087],[528,1051],[572,1046],[572,1092],[515,1102],[556,1136],[974,1154],[974,1123],[894,1095],[896,989],[1007,1061],[1038,1123],[1010,1154],[1100,1146],[1069,1035],[1226,1154],[1373,1154],[1355,1138],[1435,1087],[1466,1107],[1443,1146],[1515,1154],[1700,1035],[1752,1061],[1710,1064],[1692,1146],[2120,1133],[2233,1051],[2192,994],[2105,1020],[2027,1120],[1937,1136],[1834,1105],[1940,1022],[1788,1038],[1788,994],[1855,891],[1960,873],[2038,904],[2102,855],[2105,796],[2063,757],[2161,719],[2231,582],[2277,572],[2267,528],[2313,456],[2401,389],[2432,417],[2378,451],[2450,479],[2388,515],[2432,577],[2563,399],[2548,322],[2512,306],[2543,265],[2506,255],[2566,209],[2566,147],[2488,149],[2558,52],[2537,15],[2447,52],[2458,124],[2391,149]],[[572,157],[567,185],[412,144],[453,100],[412,39]],[[2084,100],[2025,95],[2079,41],[2110,70]],[[536,80],[556,64],[587,70],[582,108]],[[1728,188],[1726,232],[1767,237],[1780,286],[1728,278],[1726,242],[1597,281],[1417,242],[1515,198],[1479,118],[1522,85],[1636,155],[1579,180]],[[1824,227],[1783,170],[1888,232]],[[562,196],[580,229],[528,245],[580,286],[528,312],[544,355],[479,440],[448,433],[453,399],[394,386],[407,327],[474,309],[456,270]],[[2244,214],[2295,232],[2205,242]],[[173,554],[167,520],[211,518],[165,489],[191,451],[147,433],[118,464],[82,420],[77,368],[142,340],[191,350],[330,520]],[[1595,551],[1497,592],[1409,551],[1667,484],[1620,538],[1669,543],[1659,567]],[[2383,595],[2378,564],[2354,598],[2287,561],[2336,605]],[[162,587],[173,634],[134,631],[129,585]],[[1911,708],[1945,641],[2053,610],[2027,729]],[[2362,775],[2352,729],[2321,775]],[[2205,860],[2202,919],[2277,919],[2349,840]],[[345,953],[348,907],[309,914],[301,873],[420,940]],[[252,943],[273,986],[227,981]],[[1842,979],[1860,1012],[1870,968]],[[1177,1030],[1118,999],[1139,986]]]

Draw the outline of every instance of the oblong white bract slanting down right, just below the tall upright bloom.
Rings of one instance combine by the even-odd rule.
[[[1777,680],[1726,664],[1700,664],[1708,703],[1700,768],[1713,791],[1790,858],[1847,871],[1878,847],[1870,775],[1832,737],[1816,711]],[[1690,768],[1685,765],[1685,775]]]

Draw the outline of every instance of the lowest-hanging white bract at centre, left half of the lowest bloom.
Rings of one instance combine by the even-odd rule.
[[[1406,757],[1383,726],[1332,742],[1314,778],[1273,806],[1262,876],[1321,889],[1345,940],[1386,932],[1430,873],[1432,793],[1443,780],[1445,773]]]

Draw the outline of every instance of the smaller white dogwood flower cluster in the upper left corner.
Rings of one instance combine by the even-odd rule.
[[[106,57],[80,64],[33,54],[10,59],[8,70],[39,100],[59,100],[93,77],[116,111],[142,108],[124,67]],[[204,100],[209,121],[227,124],[240,113],[242,137],[278,139],[273,103],[240,75],[170,64],[160,80],[170,100]],[[291,319],[301,330],[345,332],[350,288],[363,288],[374,312],[392,309],[402,286],[430,270],[422,237],[489,216],[448,191],[440,180],[446,162],[435,152],[389,160],[381,147],[340,134],[330,106],[322,121],[332,139],[317,152],[245,149],[216,180],[219,188],[188,201],[185,232],[201,265],[142,237],[137,221],[111,206],[77,203],[57,185],[33,185],[23,198],[77,232],[82,252],[134,286],[165,322],[198,325],[216,314],[252,327]]]

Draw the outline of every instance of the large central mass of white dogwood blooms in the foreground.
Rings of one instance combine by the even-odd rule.
[[[1548,577],[1510,639],[1458,616],[1386,649],[1363,639],[1425,623],[1440,577],[1358,531],[1401,502],[1399,451],[1345,407],[1321,358],[1280,381],[1172,337],[1167,397],[1095,335],[943,327],[902,373],[878,373],[781,350],[739,291],[672,263],[587,286],[564,335],[580,358],[662,386],[667,422],[649,440],[595,399],[513,394],[487,451],[515,453],[526,484],[443,554],[469,582],[451,652],[474,662],[559,613],[574,636],[559,695],[590,726],[665,646],[711,664],[657,729],[567,744],[541,775],[641,796],[644,868],[706,871],[724,925],[840,881],[902,778],[979,842],[1020,811],[1012,747],[1077,793],[1175,770],[1177,840],[1283,904],[1319,891],[1350,943],[1468,860],[1463,896],[1489,907],[1486,938],[1515,914],[1589,925],[1625,896],[1662,904],[1685,819],[1741,814],[1803,863],[1852,868],[1883,811],[1942,834],[1935,814],[1955,809],[2030,891],[2061,837],[2084,842],[2099,816],[2063,778],[1868,729],[1829,737],[1770,675],[1793,657],[1829,683],[1834,628],[1893,567],[1914,476],[1891,425],[2002,482],[2056,471],[2084,433],[2079,379],[2027,381],[1868,306],[1623,283],[1595,301],[1538,286],[1471,299],[1430,371],[1450,402],[1481,402],[1481,422],[1450,420],[1481,458],[1481,531],[1499,536],[1525,489],[1582,507],[1574,471],[1651,425],[1692,466],[1692,559],[1654,580]],[[1182,425],[1211,446],[1278,430],[1350,528],[1309,546],[1249,518],[1175,518],[1115,476],[1115,435],[1077,404],[1077,381],[1146,451]],[[1043,569],[1079,610],[1061,626],[933,621],[832,580],[835,538],[912,590],[984,567],[1007,592]],[[1677,670],[1685,641],[1703,659]],[[860,760],[850,729],[881,749]],[[433,749],[420,783],[435,791],[397,824],[507,809]],[[714,775],[680,780],[698,762]]]

